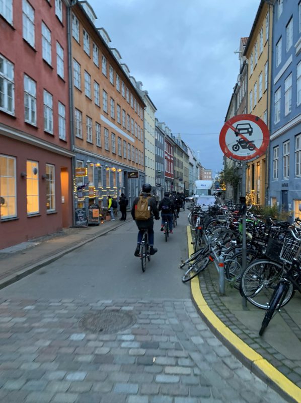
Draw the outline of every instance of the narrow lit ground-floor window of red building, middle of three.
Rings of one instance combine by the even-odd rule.
[[[37,161],[26,162],[26,198],[27,214],[39,213],[39,164]]]

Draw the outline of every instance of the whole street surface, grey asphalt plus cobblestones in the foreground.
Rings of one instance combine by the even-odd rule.
[[[181,282],[180,212],[142,273],[128,222],[0,291],[4,403],[281,403],[215,338]]]

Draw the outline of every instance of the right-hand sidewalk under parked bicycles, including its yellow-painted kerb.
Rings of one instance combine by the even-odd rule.
[[[189,253],[193,252],[188,227]],[[200,315],[216,337],[257,376],[288,401],[301,402],[301,296],[281,309],[263,337],[258,331],[264,310],[243,307],[238,290],[225,283],[219,295],[214,264],[191,281],[191,293]]]

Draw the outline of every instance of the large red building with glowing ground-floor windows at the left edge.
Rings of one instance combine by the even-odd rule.
[[[67,6],[0,8],[0,249],[72,224]]]

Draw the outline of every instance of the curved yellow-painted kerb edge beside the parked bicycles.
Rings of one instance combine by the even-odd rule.
[[[187,226],[188,252],[193,253],[192,237],[190,226]],[[241,340],[228,326],[226,326],[207,305],[200,287],[198,277],[190,282],[191,294],[201,314],[214,327],[214,329],[226,339],[235,350],[246,357],[252,364],[252,370],[257,367],[266,377],[268,377],[275,385],[277,385],[285,394],[294,399],[297,403],[301,402],[301,389],[291,382],[286,376],[278,371],[273,365],[265,360],[260,354],[251,349],[243,340]],[[253,370],[253,372],[255,372]],[[256,371],[258,372],[258,371]]]

